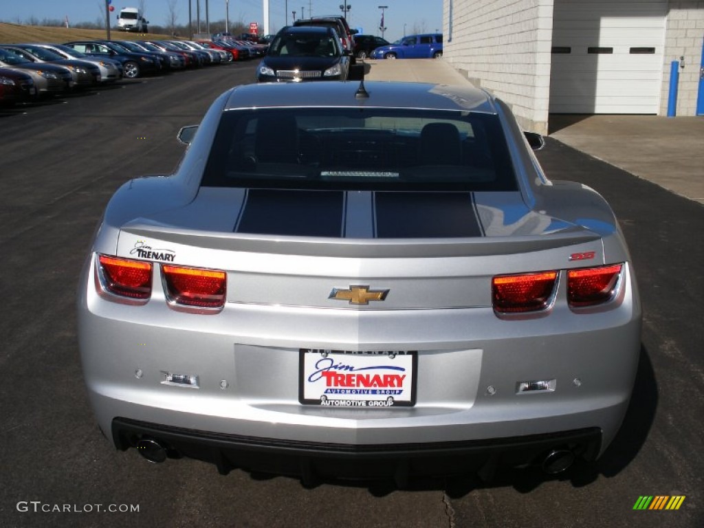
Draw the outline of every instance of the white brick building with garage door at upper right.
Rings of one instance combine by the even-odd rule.
[[[444,0],[444,60],[513,107],[549,113],[704,113],[703,0]]]

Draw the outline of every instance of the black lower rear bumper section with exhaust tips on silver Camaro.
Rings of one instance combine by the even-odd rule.
[[[541,465],[555,451],[593,460],[601,448],[601,430],[596,427],[486,441],[364,446],[217,434],[122,417],[113,420],[111,433],[115,446],[123,451],[137,448],[141,439],[153,439],[170,457],[204,460],[215,464],[221,474],[239,468],[304,479],[486,474],[501,467]]]

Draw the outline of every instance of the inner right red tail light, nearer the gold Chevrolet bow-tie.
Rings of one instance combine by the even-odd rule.
[[[543,310],[550,304],[558,272],[499,275],[491,281],[494,310],[522,313]]]

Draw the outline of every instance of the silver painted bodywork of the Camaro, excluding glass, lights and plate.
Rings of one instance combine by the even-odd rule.
[[[377,445],[598,427],[603,452],[629,402],[641,325],[634,272],[610,208],[588,187],[548,180],[508,108],[486,93],[365,84],[369,99],[354,97],[356,82],[235,87],[206,113],[174,175],[130,180],[113,196],[78,296],[84,376],[101,429],[128,417],[282,441]],[[340,191],[347,208],[334,236],[238,230],[251,189],[199,187],[220,116],[310,101],[498,114],[519,189],[467,193],[477,236],[378,237],[370,227],[379,206],[374,191]],[[149,301],[131,306],[101,295],[99,253],[153,262]],[[614,298],[592,310],[570,308],[567,270],[610,263],[623,263]],[[163,264],[225,270],[225,307],[174,309],[158,286]],[[498,317],[491,277],[542,270],[559,270],[550,306]],[[330,298],[331,289],[356,284],[389,293],[367,305]],[[415,406],[302,405],[302,349],[417,351]],[[198,388],[164,383],[165,372],[196,376]],[[517,391],[531,380],[551,380],[554,390]]]

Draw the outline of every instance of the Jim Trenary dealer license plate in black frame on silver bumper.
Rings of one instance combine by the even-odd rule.
[[[415,351],[301,348],[298,401],[321,407],[415,405]]]

